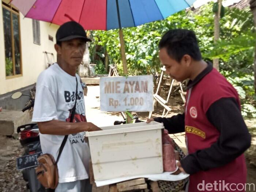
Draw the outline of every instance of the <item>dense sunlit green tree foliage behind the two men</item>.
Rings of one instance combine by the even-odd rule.
[[[253,92],[255,28],[252,13],[249,8],[225,8],[225,16],[220,21],[220,40],[214,44],[212,6],[213,3],[209,3],[195,11],[180,11],[164,20],[123,29],[128,73],[159,73],[161,64],[158,58],[158,42],[162,35],[169,29],[193,30],[204,60],[220,58],[220,71],[240,94],[243,114],[256,116],[256,98]],[[94,41],[90,48],[91,60],[95,54],[104,56],[107,52],[109,64],[117,64],[118,72],[122,75],[118,29],[92,31],[91,35]],[[96,45],[102,46],[101,53],[95,52]]]

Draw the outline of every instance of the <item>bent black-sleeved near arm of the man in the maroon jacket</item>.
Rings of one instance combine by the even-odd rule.
[[[206,115],[219,130],[220,136],[211,147],[181,159],[182,168],[189,174],[223,166],[239,157],[251,145],[251,135],[234,98],[221,98],[214,102]]]

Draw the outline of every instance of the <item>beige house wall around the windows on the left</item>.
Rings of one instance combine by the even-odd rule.
[[[0,8],[0,95],[29,86],[36,82],[38,75],[46,68],[47,59],[43,52],[54,54],[55,34],[59,26],[40,21],[41,45],[33,43],[32,19],[24,18],[20,12],[20,44],[22,55],[22,76],[11,79],[5,76],[3,9]],[[49,40],[48,35],[53,37]]]

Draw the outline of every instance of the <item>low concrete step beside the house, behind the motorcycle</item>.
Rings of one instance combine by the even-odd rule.
[[[0,112],[0,135],[12,135],[17,132],[17,127],[30,123],[29,112],[5,110]]]

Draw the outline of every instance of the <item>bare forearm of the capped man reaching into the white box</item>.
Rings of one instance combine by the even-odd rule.
[[[59,120],[38,122],[39,131],[49,135],[69,135],[83,131],[99,131],[101,128],[90,122],[69,123]]]

